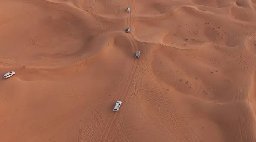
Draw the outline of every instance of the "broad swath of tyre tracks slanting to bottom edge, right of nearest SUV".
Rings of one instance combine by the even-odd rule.
[[[148,78],[145,78],[146,80],[148,80],[147,82],[150,82],[152,86],[152,91],[148,92],[148,93],[154,93],[154,94],[158,94],[157,96],[152,96],[150,94],[146,95],[146,99],[148,102],[150,103],[154,103],[154,106],[151,106],[151,109],[154,110],[154,112],[157,113],[157,116],[163,120],[162,123],[163,125],[166,126],[166,130],[168,131],[168,133],[174,133],[175,135],[179,136],[179,134],[183,134],[185,137],[183,138],[178,138],[177,139],[182,139],[182,141],[193,141],[193,142],[201,142],[201,140],[199,139],[199,137],[197,136],[197,134],[195,133],[195,131],[192,130],[192,128],[190,128],[190,126],[184,125],[186,124],[184,122],[183,119],[180,119],[178,117],[172,117],[172,124],[176,124],[172,127],[175,127],[175,130],[178,130],[178,132],[174,132],[172,131],[173,128],[168,128],[169,124],[168,121],[166,121],[166,118],[162,116],[162,111],[159,111],[161,108],[163,108],[162,106],[159,106],[160,104],[163,103],[169,103],[167,104],[163,104],[164,106],[168,106],[166,108],[165,114],[169,114],[170,116],[177,116],[178,114],[178,110],[177,108],[174,106],[174,104],[172,103],[172,100],[170,100],[168,97],[165,97],[165,90],[163,89],[163,86],[161,85],[161,81],[158,79],[157,76],[152,75],[150,72],[148,72],[149,70],[153,70],[150,66],[148,66],[148,70],[145,70],[146,72],[144,72],[144,74],[148,75]],[[146,90],[145,90],[146,91]],[[161,103],[157,103],[157,102],[161,102]],[[153,123],[153,122],[152,122]],[[159,126],[155,126],[156,128]],[[186,133],[185,131],[189,131],[189,133]]]

